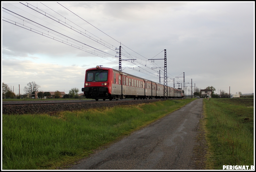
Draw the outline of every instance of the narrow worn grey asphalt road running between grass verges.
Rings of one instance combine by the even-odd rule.
[[[93,154],[70,170],[188,170],[202,113],[199,98]]]

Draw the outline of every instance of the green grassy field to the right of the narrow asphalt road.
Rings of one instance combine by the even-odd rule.
[[[204,100],[206,169],[254,165],[254,99]]]

